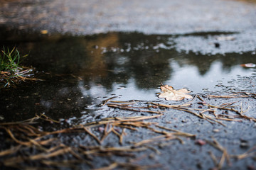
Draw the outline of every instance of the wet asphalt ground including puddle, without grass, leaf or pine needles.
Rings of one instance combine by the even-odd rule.
[[[36,128],[53,131],[105,118],[151,116],[156,113],[144,113],[142,108],[139,108],[141,112],[127,111],[102,103],[112,97],[114,101],[137,100],[136,105],[131,106],[137,110],[135,107],[148,106],[148,102],[189,101],[158,98],[161,83],[169,84],[174,89],[189,89],[193,96],[201,96],[205,103],[213,106],[236,102],[231,107],[233,110],[216,110],[216,114],[234,120],[209,123],[188,112],[153,107],[149,111],[164,111],[164,115],[145,121],[188,132],[196,138],[181,137],[184,144],[181,140],[146,144],[145,151],[131,155],[110,152],[93,155],[93,159],[83,155],[86,157],[83,161],[79,159],[75,168],[96,169],[122,162],[126,164],[119,164],[119,168],[150,165],[152,167],[145,169],[213,169],[218,164],[214,164],[209,152],[217,157],[217,162],[223,154],[210,145],[214,137],[230,155],[252,148],[252,153],[244,159],[231,158],[232,165],[226,158],[221,169],[255,169],[256,71],[241,66],[256,63],[255,1],[3,1],[0,8],[1,46],[16,46],[22,54],[29,52],[23,64],[35,67],[36,77],[44,79],[21,84],[17,89],[1,89],[1,123],[26,120],[43,113],[60,123],[42,120]],[[247,93],[247,97],[208,96],[241,92]],[[200,98],[192,103],[189,107],[196,113],[200,112],[196,109],[209,107],[203,105]],[[236,111],[241,113],[248,107],[244,114],[250,118],[234,117],[239,115]],[[94,128],[92,132],[102,137],[101,128],[106,127]],[[156,127],[153,125],[153,128]],[[121,133],[122,129],[115,130]],[[1,150],[16,145],[9,143],[6,132],[1,131],[1,139],[6,141],[0,145]],[[156,136],[149,128],[138,128],[127,130],[122,145],[112,133],[101,146],[136,148],[131,142]],[[61,134],[57,138],[54,145],[62,143],[76,149],[81,145],[99,145],[85,132]],[[12,156],[22,158],[40,153],[40,149],[31,147]],[[77,153],[81,154],[79,150]],[[63,154],[43,160],[24,159],[10,165],[10,157],[2,157],[3,168],[60,169],[63,167],[60,160],[75,159],[72,154]],[[58,164],[43,162],[47,160]]]

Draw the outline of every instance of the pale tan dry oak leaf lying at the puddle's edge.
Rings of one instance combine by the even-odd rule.
[[[159,98],[166,98],[167,101],[182,101],[184,98],[193,98],[188,94],[191,91],[187,89],[174,90],[172,86],[168,85],[162,85],[160,88],[164,93],[161,93]]]

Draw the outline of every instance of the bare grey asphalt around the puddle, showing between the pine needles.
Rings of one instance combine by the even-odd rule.
[[[0,26],[20,33],[55,33],[69,35],[93,35],[108,32],[139,32],[144,34],[177,35],[174,42],[177,51],[201,53],[204,55],[228,53],[250,53],[255,57],[256,50],[256,2],[228,0],[183,0],[183,1],[1,1]],[[46,31],[47,30],[47,31]],[[45,32],[42,32],[45,31]],[[228,36],[226,36],[228,34]],[[221,35],[220,39],[215,35]],[[217,45],[216,45],[217,44]],[[218,46],[218,47],[217,47]],[[230,81],[235,92],[255,94],[255,75]],[[222,95],[229,91],[210,91],[209,94]],[[207,94],[199,94],[206,96]],[[222,103],[243,103],[246,113],[256,117],[255,98],[205,98],[213,105]],[[193,108],[201,101],[194,101]],[[144,103],[142,103],[143,106]],[[107,113],[117,113],[109,110]],[[176,128],[196,135],[196,139],[212,141],[214,137],[230,154],[242,154],[256,145],[256,124],[252,120],[227,122],[223,125],[210,124],[191,114],[180,111],[166,111],[160,125]],[[126,115],[127,112],[120,113]],[[171,122],[166,124],[166,122]],[[128,140],[145,139],[146,132],[129,133]],[[71,137],[63,137],[64,142]],[[77,137],[80,140],[79,137]],[[66,139],[66,141],[65,141]],[[68,140],[67,140],[68,139]],[[146,152],[150,157],[140,164],[161,164],[159,169],[214,169],[215,164],[209,155],[213,152],[220,159],[222,152],[210,145],[198,145],[196,140],[183,139],[166,147],[157,147],[161,154]],[[83,145],[90,145],[82,141]],[[104,145],[111,145],[116,139],[109,139]],[[128,143],[128,142],[127,142]],[[72,145],[72,142],[70,142]],[[154,153],[154,154],[152,154]],[[142,153],[143,154],[143,153]],[[142,156],[139,154],[139,156]],[[245,159],[232,159],[223,169],[255,169],[256,155]],[[112,162],[126,162],[126,158],[95,158],[96,168]],[[99,163],[100,162],[100,163]],[[88,168],[87,166],[82,166]]]

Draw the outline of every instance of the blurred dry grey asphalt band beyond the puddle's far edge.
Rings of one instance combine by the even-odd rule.
[[[93,34],[107,31],[194,33],[254,31],[246,1],[1,1],[1,24],[19,29]]]

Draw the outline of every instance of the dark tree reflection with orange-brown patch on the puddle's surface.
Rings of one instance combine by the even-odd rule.
[[[250,52],[225,56],[177,52],[172,47],[171,35],[106,33],[86,37],[42,37],[35,33],[22,36],[6,35],[2,38],[12,39],[1,39],[1,43],[16,45],[23,54],[31,51],[26,65],[48,74],[46,81],[38,82],[29,91],[18,91],[19,96],[38,96],[32,95],[29,102],[22,103],[23,106],[15,106],[12,101],[16,101],[16,94],[3,93],[2,106],[13,107],[15,112],[22,112],[21,108],[29,109],[31,113],[48,112],[53,118],[70,118],[81,113],[86,113],[87,117],[97,116],[95,108],[87,107],[96,107],[103,97],[109,97],[116,84],[125,86],[132,81],[139,90],[156,89],[161,82],[171,81],[176,69],[180,71],[193,66],[204,75],[217,61],[222,63],[225,72],[230,72],[238,64],[256,62]],[[35,107],[31,108],[33,105]],[[9,113],[7,108],[1,109]]]

